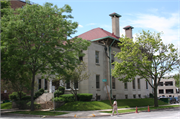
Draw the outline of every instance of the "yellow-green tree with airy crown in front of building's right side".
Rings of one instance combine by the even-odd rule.
[[[128,82],[140,76],[154,90],[154,106],[158,107],[157,86],[161,79],[179,67],[180,58],[173,44],[165,45],[161,33],[150,31],[138,34],[136,41],[120,38],[121,52],[116,53],[121,62],[115,62],[112,75],[120,81]],[[153,80],[151,82],[151,80]]]

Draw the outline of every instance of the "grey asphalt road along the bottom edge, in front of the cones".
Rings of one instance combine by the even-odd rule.
[[[37,117],[0,117],[1,119],[42,119]],[[92,119],[180,119],[180,108],[158,110],[151,112],[140,112],[140,113],[131,113],[123,114],[119,116],[103,116],[103,117],[91,117]],[[48,118],[48,119],[57,119],[57,118]],[[70,118],[62,118],[70,119]],[[82,118],[81,119],[87,119]]]

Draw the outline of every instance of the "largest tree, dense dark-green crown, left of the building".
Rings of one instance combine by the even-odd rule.
[[[2,70],[13,67],[9,65],[13,61],[16,65],[20,61],[19,70],[28,69],[32,76],[31,111],[34,110],[35,76],[47,72],[65,74],[65,69],[74,69],[79,62],[78,52],[90,45],[89,41],[77,37],[68,40],[78,26],[69,20],[73,18],[71,11],[69,5],[58,8],[51,3],[26,4],[15,11],[10,9],[1,20],[1,49],[8,56],[8,60],[2,61]]]

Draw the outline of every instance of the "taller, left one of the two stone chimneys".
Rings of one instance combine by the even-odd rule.
[[[109,16],[112,18],[112,33],[119,37],[119,17],[121,17],[121,15],[114,12]]]

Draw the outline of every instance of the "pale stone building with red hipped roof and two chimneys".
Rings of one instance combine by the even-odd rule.
[[[12,8],[23,7],[25,2],[17,0],[11,1]],[[120,52],[118,46],[119,41],[119,18],[121,15],[117,13],[110,14],[112,18],[112,33],[102,29],[95,28],[89,30],[78,37],[86,39],[91,42],[84,57],[79,58],[80,60],[87,63],[87,71],[91,74],[88,80],[84,80],[76,85],[78,87],[78,93],[92,93],[93,97],[97,100],[108,99],[106,93],[105,84],[102,79],[107,79],[107,85],[112,88],[112,97],[117,99],[127,98],[143,98],[152,93],[152,88],[144,79],[136,79],[132,82],[123,83],[111,76],[111,69],[114,67],[111,65],[114,61],[119,61],[114,57],[114,51]],[[132,26],[124,27],[125,34],[127,37],[132,38]],[[49,93],[52,93],[52,79],[46,80],[41,79],[41,75],[36,76],[37,89],[43,88]],[[63,85],[60,82],[60,85]],[[65,93],[70,93],[70,84],[65,85]]]

